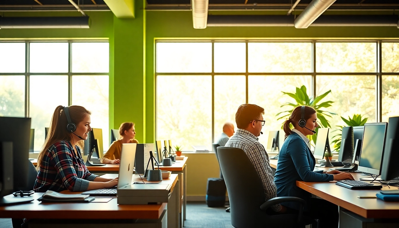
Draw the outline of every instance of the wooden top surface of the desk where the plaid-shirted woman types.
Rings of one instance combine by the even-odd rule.
[[[105,174],[105,178],[111,178]],[[162,180],[166,184],[178,180],[178,174]],[[133,175],[133,182],[141,181],[138,175]],[[144,180],[146,182],[146,180]],[[61,193],[77,194],[80,192],[63,191]],[[43,193],[35,193],[38,199]],[[111,197],[106,197],[111,198]],[[0,206],[0,218],[41,218],[41,219],[158,219],[166,208],[166,203],[155,205],[119,205],[113,197],[107,203],[41,203],[34,200],[27,204]]]

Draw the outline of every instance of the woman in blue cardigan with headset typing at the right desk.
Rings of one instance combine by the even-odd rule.
[[[275,173],[277,196],[296,196],[306,200],[304,214],[318,219],[318,227],[338,227],[338,206],[326,200],[311,198],[310,193],[296,186],[296,181],[323,182],[354,178],[351,174],[340,171],[313,171],[316,163],[310,152],[307,135],[313,135],[317,125],[316,110],[308,106],[298,106],[284,122],[285,140],[279,153],[279,162]],[[290,123],[294,129],[290,129]],[[295,203],[282,205],[298,210]]]

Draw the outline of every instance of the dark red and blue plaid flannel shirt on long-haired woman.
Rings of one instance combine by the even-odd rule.
[[[87,170],[80,148],[75,146],[75,149],[67,141],[51,145],[41,164],[38,164],[40,170],[34,186],[35,192],[87,190],[89,181],[93,181],[97,175]]]

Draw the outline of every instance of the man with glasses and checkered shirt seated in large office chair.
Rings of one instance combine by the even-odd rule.
[[[265,109],[258,105],[240,105],[235,114],[237,131],[227,141],[225,147],[240,148],[245,152],[261,178],[263,190],[265,191],[265,200],[269,200],[277,196],[277,187],[273,181],[269,155],[267,155],[265,147],[258,141],[262,126],[265,125],[262,115],[265,115]],[[280,204],[272,206],[272,209],[275,212],[286,211],[286,208]]]

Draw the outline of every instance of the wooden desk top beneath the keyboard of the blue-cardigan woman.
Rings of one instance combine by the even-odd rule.
[[[278,159],[270,159],[270,166],[276,169],[277,162]],[[328,167],[315,168],[320,170],[329,169]],[[360,172],[351,172],[351,174],[355,180],[365,177]],[[296,186],[364,218],[399,218],[399,202],[384,202],[375,198],[358,198],[358,196],[375,196],[379,190],[352,190],[336,185],[335,182],[296,181]],[[390,189],[397,188],[391,187]],[[389,188],[385,186],[382,190],[389,190]]]

